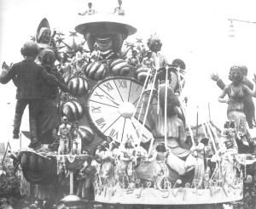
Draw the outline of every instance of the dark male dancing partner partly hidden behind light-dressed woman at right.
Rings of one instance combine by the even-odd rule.
[[[241,79],[241,82],[246,85],[248,88],[253,90],[253,83],[250,82],[247,79],[247,67],[245,65],[238,65],[237,67],[241,68],[241,72],[243,75],[243,78]],[[230,76],[229,76],[230,78]],[[225,83],[221,78],[219,78],[218,74],[213,74],[211,75],[212,81],[216,82],[218,88],[224,90],[226,87]],[[231,80],[231,78],[230,78]],[[255,122],[255,106],[253,103],[252,96],[247,94],[247,96],[243,99],[243,105],[244,105],[244,113],[247,118],[247,123],[249,128],[253,128],[253,123],[256,124]]]

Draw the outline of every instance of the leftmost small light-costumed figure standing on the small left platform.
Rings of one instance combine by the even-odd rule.
[[[62,124],[59,127],[58,136],[60,138],[59,155],[67,155],[70,151],[71,125],[68,124],[67,116],[62,117]]]

